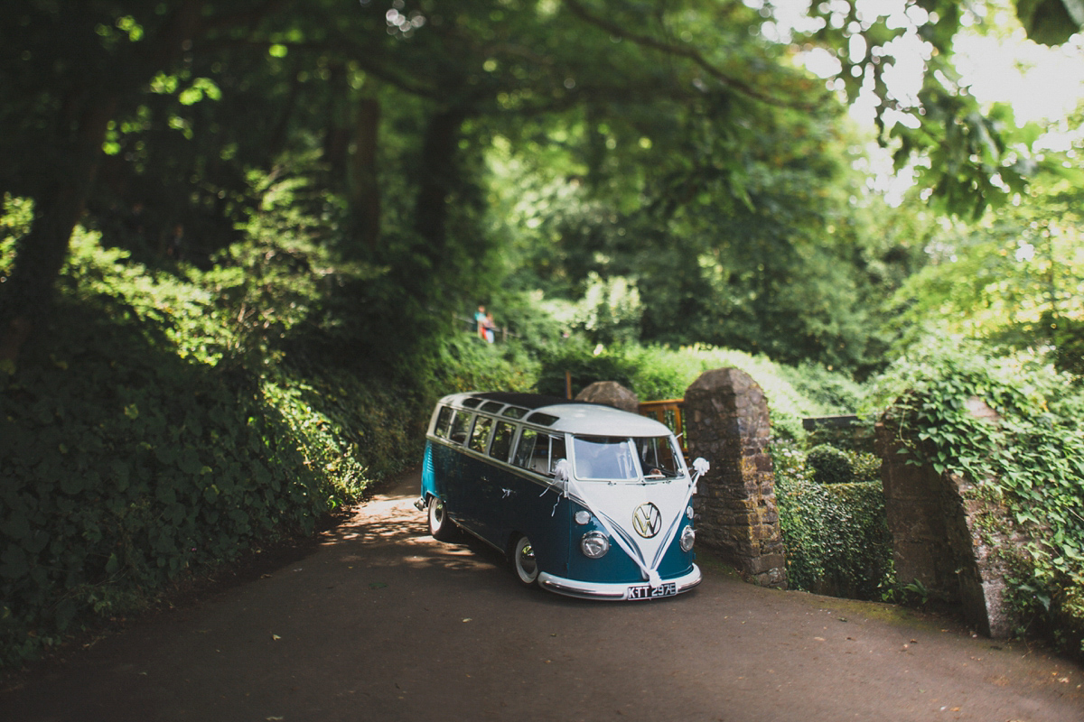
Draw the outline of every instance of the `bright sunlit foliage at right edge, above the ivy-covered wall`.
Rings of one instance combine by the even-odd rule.
[[[945,223],[928,265],[895,293],[907,340],[935,328],[1042,349],[1059,368],[1084,371],[1082,207],[1084,176],[1072,163],[979,223]]]

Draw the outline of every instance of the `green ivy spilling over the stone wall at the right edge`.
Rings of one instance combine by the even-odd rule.
[[[916,463],[956,473],[1004,504],[1032,540],[1001,549],[1015,569],[1021,619],[1082,639],[1084,605],[1084,393],[1025,357],[993,358],[977,345],[932,346],[886,376],[888,419]],[[894,395],[899,394],[899,395]],[[996,419],[976,416],[982,402]],[[1020,564],[1020,562],[1023,564]]]

